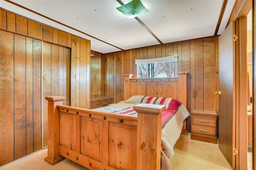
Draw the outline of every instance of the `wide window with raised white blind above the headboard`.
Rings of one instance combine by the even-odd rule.
[[[138,78],[177,77],[178,55],[135,60]]]

